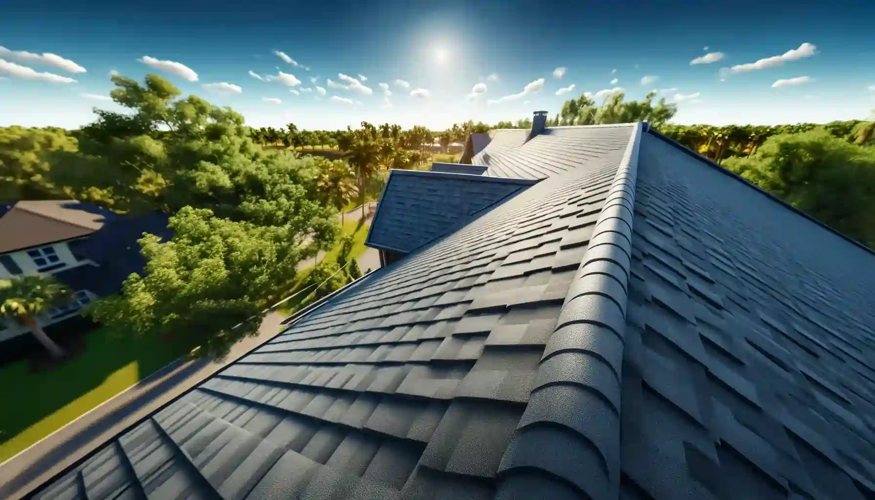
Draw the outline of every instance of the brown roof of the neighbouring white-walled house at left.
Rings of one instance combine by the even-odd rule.
[[[0,216],[0,253],[87,236],[114,216],[81,201],[18,201]]]

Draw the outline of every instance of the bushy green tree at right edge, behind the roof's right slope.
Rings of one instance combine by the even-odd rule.
[[[875,148],[823,129],[770,137],[725,167],[844,234],[875,245]]]

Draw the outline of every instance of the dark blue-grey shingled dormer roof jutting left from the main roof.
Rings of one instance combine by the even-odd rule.
[[[476,167],[475,167],[476,168]],[[392,170],[367,232],[367,246],[408,253],[446,236],[535,180]]]

